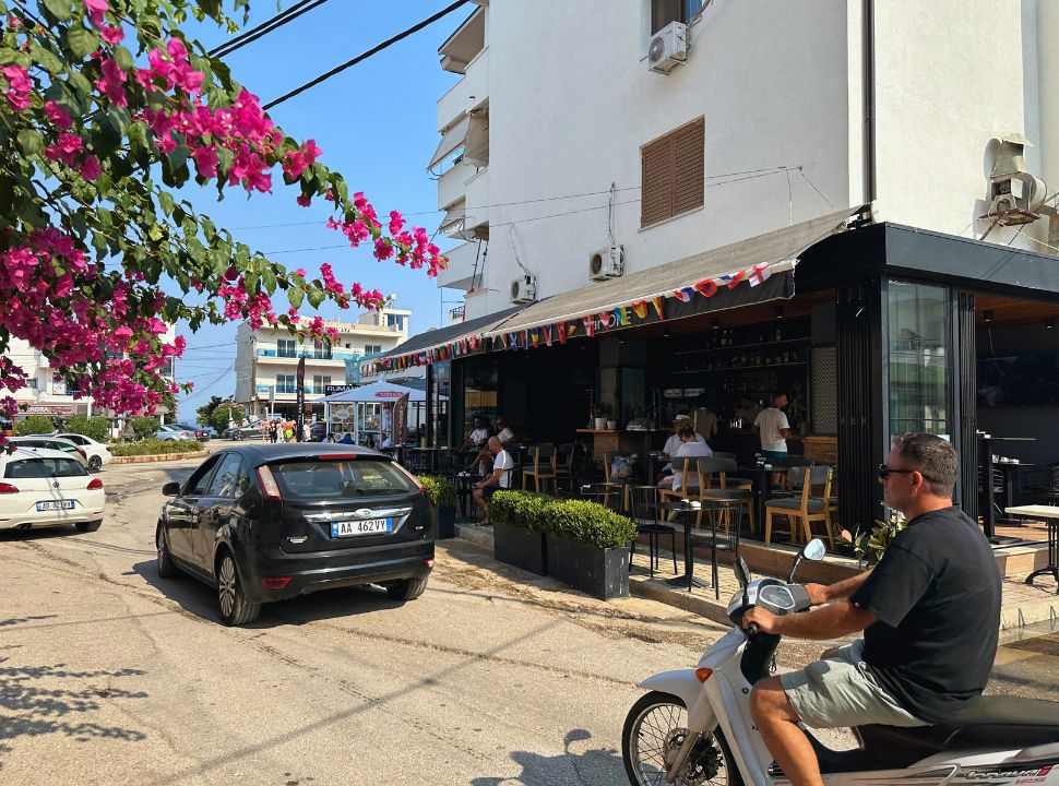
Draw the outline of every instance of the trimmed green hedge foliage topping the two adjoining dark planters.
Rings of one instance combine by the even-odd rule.
[[[489,517],[599,548],[623,548],[636,537],[631,519],[602,504],[527,491],[497,491],[489,503]]]

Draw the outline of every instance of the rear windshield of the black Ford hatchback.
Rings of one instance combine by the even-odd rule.
[[[376,458],[290,461],[269,466],[284,497],[334,499],[417,490],[393,464]]]

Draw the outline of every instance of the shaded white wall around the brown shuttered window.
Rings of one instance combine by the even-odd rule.
[[[649,9],[646,0],[489,5],[491,204],[606,192],[614,181],[627,203],[615,235],[630,272],[830,210],[794,175],[792,216],[787,180],[771,175],[706,188],[703,210],[641,231],[640,147],[699,116],[705,176],[804,165],[836,206],[860,199],[848,166],[844,0],[826,14],[818,0],[714,0],[690,29],[688,62],[669,76],[646,67]],[[596,193],[490,210],[495,291],[488,303],[468,301],[468,318],[508,306],[519,273],[511,222],[538,296],[584,286],[588,253],[609,242],[607,201]],[[583,212],[526,221],[571,211]]]

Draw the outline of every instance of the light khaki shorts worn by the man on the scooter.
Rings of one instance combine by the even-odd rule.
[[[843,728],[865,724],[926,726],[876,681],[861,659],[864,641],[841,647],[828,660],[781,675],[790,706],[807,726]]]

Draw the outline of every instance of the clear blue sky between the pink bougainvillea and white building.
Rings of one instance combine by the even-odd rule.
[[[266,103],[448,4],[448,0],[331,0],[239,49],[226,62],[233,75]],[[282,5],[287,8],[290,2]],[[246,27],[275,15],[276,3],[255,0],[252,10]],[[469,3],[457,9],[281,104],[270,112],[271,117],[295,139],[314,139],[323,150],[321,160],[345,176],[350,192],[364,191],[380,215],[398,210],[409,222],[433,234],[440,214],[435,211],[437,188],[426,164],[438,144],[436,103],[457,79],[441,70],[438,47],[472,10],[474,5]],[[228,37],[212,26],[189,33],[207,48]],[[413,334],[441,324],[441,293],[447,293],[447,299],[457,293],[438,289],[421,270],[378,262],[366,249],[343,246],[344,238],[324,227],[324,204],[298,206],[297,192],[284,188],[278,169],[273,183],[272,194],[257,194],[249,200],[239,190],[230,189],[224,201],[217,202],[213,186],[199,189],[192,184],[181,195],[238,239],[264,252],[337,246],[276,253],[273,259],[310,273],[318,271],[320,263],[330,262],[338,281],[346,285],[359,281],[385,294],[395,293],[396,306],[413,311]],[[421,215],[409,215],[413,213]],[[285,303],[282,293],[279,298]],[[451,306],[445,302],[443,308]],[[313,313],[308,303],[302,313]],[[320,313],[355,321],[359,311],[342,312],[325,306]],[[178,396],[179,413],[181,419],[193,420],[195,407],[211,395],[228,396],[235,392],[235,372],[226,369],[235,360],[236,325],[204,326],[194,334],[187,331],[187,325],[180,325],[178,332],[185,335],[189,347],[178,361],[178,381],[195,383],[190,397]]]

